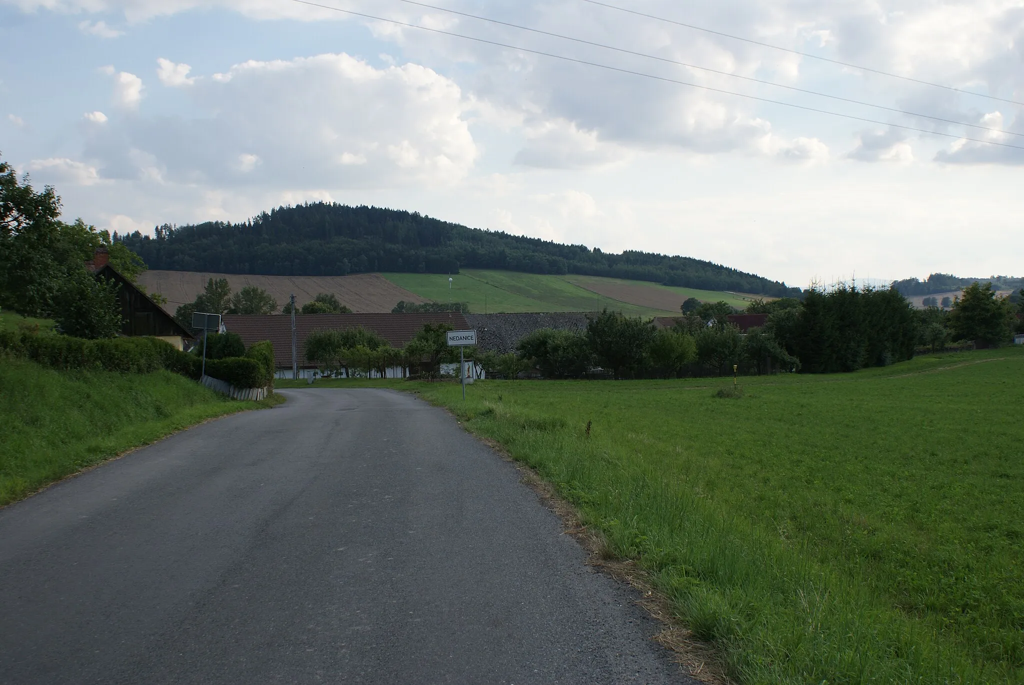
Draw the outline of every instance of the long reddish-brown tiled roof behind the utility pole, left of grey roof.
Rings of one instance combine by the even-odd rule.
[[[269,340],[279,369],[292,368],[292,317],[289,314],[225,314],[224,328],[242,337],[246,346]],[[296,314],[295,334],[299,366],[309,366],[302,353],[313,331],[354,329],[359,326],[384,338],[392,347],[402,347],[424,324],[447,324],[456,330],[469,328],[460,313],[437,314]]]

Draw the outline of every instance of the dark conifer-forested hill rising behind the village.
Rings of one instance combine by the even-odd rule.
[[[378,207],[314,203],[280,207],[244,223],[163,225],[151,238],[120,237],[150,268],[266,275],[345,275],[366,271],[456,273],[493,268],[580,273],[768,296],[797,288],[689,257],[622,254],[468,228]]]

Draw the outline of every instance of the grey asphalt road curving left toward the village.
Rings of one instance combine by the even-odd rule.
[[[690,682],[444,412],[283,393],[0,510],[0,682]]]

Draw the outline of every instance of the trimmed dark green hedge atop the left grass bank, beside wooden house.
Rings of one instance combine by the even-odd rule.
[[[123,374],[148,374],[166,369],[199,380],[203,359],[157,338],[85,340],[59,334],[0,331],[0,351],[54,369],[91,369]],[[206,375],[237,388],[273,384],[273,347],[268,340],[254,343],[246,356],[207,359]]]

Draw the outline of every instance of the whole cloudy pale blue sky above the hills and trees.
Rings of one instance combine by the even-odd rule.
[[[1024,275],[1024,0],[318,4],[0,0],[2,159],[121,232],[323,200],[799,287]]]

